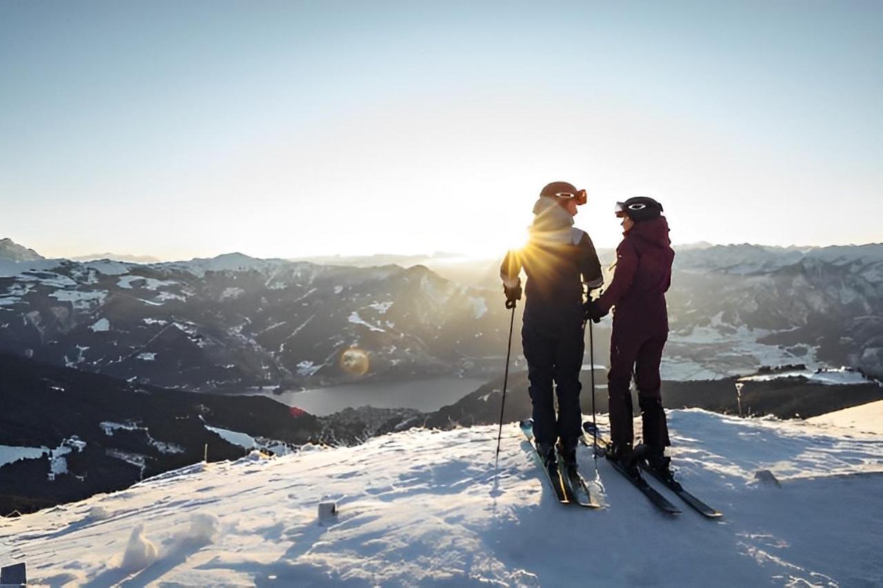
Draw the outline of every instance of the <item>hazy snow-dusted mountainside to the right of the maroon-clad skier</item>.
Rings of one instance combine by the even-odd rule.
[[[667,360],[688,372],[746,373],[746,359],[754,359],[883,376],[880,244],[678,253],[668,308]],[[701,354],[713,366],[697,361]]]

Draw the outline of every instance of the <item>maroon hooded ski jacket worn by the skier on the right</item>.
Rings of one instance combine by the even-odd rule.
[[[675,252],[665,216],[636,222],[616,247],[613,282],[598,299],[604,312],[615,306],[613,338],[668,333],[665,292]]]

